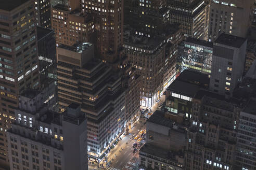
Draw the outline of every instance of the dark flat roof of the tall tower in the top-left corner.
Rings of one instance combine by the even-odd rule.
[[[28,1],[29,0],[0,0],[0,9],[11,11]]]

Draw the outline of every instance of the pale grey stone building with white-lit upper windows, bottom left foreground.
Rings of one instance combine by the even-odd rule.
[[[88,169],[85,115],[77,104],[59,114],[25,91],[7,131],[10,169]]]

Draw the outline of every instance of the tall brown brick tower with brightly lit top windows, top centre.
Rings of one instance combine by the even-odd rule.
[[[81,2],[82,11],[95,19],[97,55],[106,62],[119,58],[123,44],[123,3],[121,0]]]

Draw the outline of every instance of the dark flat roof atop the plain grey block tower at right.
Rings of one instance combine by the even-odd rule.
[[[246,38],[237,37],[234,35],[224,34],[222,33],[215,41],[214,43],[223,44],[226,46],[236,47],[240,48],[242,44],[244,44],[246,41]]]

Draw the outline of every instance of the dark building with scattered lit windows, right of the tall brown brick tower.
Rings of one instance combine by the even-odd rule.
[[[164,25],[169,24],[170,15],[166,4],[166,0],[125,1],[124,23],[130,25],[133,32],[140,36],[153,37],[161,34]]]

